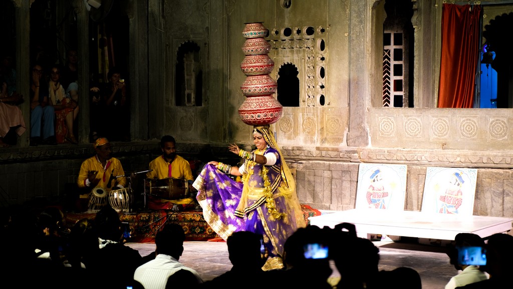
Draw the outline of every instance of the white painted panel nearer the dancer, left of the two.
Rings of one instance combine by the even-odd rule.
[[[355,207],[404,210],[406,170],[406,165],[361,163]]]

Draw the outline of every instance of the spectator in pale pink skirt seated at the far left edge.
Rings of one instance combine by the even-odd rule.
[[[14,92],[9,94],[7,82],[0,77],[0,148],[9,148],[9,141],[6,136],[9,131],[14,130],[18,136],[21,136],[25,130],[25,120],[23,120],[22,111],[17,104],[23,102],[23,96]],[[14,145],[15,141],[10,141]]]

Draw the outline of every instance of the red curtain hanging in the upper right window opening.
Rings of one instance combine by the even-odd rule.
[[[438,107],[471,108],[479,58],[481,6],[444,4]]]

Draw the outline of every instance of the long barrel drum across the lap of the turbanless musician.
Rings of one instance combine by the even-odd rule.
[[[181,200],[189,197],[189,183],[181,178],[152,179],[148,187],[151,196],[165,200]]]

